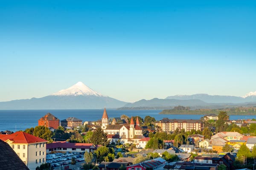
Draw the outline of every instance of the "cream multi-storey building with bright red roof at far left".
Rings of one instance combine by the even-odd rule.
[[[46,161],[46,143],[48,141],[22,131],[1,136],[9,144],[26,166],[35,170]]]

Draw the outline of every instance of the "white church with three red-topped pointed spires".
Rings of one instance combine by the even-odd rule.
[[[102,115],[101,128],[108,134],[110,143],[120,142],[122,144],[137,144],[140,139],[145,138],[138,117],[136,119],[136,124],[134,124],[134,120],[131,117],[130,124],[110,125],[106,109],[104,109]]]

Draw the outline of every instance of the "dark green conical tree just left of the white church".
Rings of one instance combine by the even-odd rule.
[[[107,133],[105,133],[101,127],[97,128],[95,132],[93,132],[90,142],[93,144],[101,144],[106,146],[109,143]]]

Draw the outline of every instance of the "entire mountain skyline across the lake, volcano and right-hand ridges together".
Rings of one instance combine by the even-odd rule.
[[[177,105],[192,108],[218,108],[227,105],[247,105],[250,102],[256,103],[256,92],[250,92],[243,97],[208,94],[175,95],[168,96],[166,99],[142,99],[128,103],[100,94],[84,83],[78,82],[70,88],[49,96],[0,102],[0,109],[172,108]]]

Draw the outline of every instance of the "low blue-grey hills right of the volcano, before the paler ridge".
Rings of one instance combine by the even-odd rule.
[[[166,106],[206,106],[209,105],[206,102],[203,102],[199,99],[192,99],[192,100],[177,100],[177,99],[151,99],[145,100],[142,99],[138,102],[128,103],[124,107],[127,108],[135,108],[135,107],[166,107]]]

